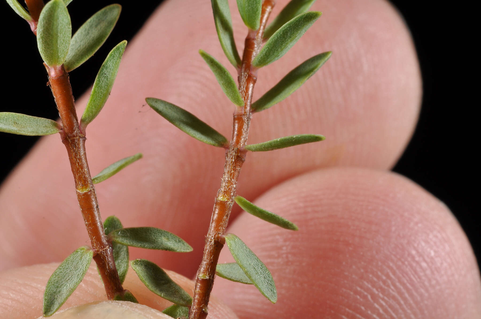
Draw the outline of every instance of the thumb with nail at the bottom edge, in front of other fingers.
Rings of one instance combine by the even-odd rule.
[[[1,272],[0,318],[25,319],[41,316],[43,292],[51,274],[57,267],[58,263],[50,263]],[[169,270],[166,272],[187,293],[193,295],[194,282],[176,272]],[[171,306],[172,303],[153,294],[140,282],[131,268],[127,272],[124,287],[137,298],[140,305],[130,302],[107,301],[95,263],[91,263],[82,282],[60,308],[60,311],[67,310],[59,311],[51,318],[171,318],[161,311]],[[83,306],[76,307],[79,305]],[[209,303],[209,318],[238,319],[232,310],[221,304],[215,297],[212,297]]]

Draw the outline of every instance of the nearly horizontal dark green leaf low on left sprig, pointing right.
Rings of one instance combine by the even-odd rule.
[[[176,251],[179,253],[192,251],[192,247],[182,238],[154,227],[117,229],[109,233],[109,238],[116,243],[132,247]]]

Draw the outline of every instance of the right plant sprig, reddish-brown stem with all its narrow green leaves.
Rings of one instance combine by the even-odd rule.
[[[298,229],[291,221],[254,205],[244,197],[236,196],[236,187],[246,151],[270,151],[322,141],[325,138],[323,135],[302,134],[253,145],[246,143],[252,113],[266,110],[288,98],[331,56],[331,52],[325,52],[304,61],[252,103],[258,69],[280,59],[320,17],[321,12],[307,11],[314,1],[292,0],[273,23],[266,27],[274,0],[237,0],[242,21],[249,29],[241,60],[233,38],[228,0],[211,0],[220,45],[230,63],[238,69],[238,86],[236,87],[234,79],[219,61],[203,50],[199,52],[214,73],[222,91],[235,105],[230,142],[190,112],[158,98],[146,98],[152,109],[183,132],[204,143],[227,148],[224,175],[215,198],[203,260],[197,271],[194,298],[188,312],[189,319],[207,317],[207,305],[215,274],[234,282],[253,284],[271,302],[277,301],[274,280],[264,263],[239,237],[234,234],[225,234],[225,231],[234,202],[237,202],[245,211],[265,221],[290,230]],[[266,41],[264,46],[262,46],[263,41]],[[220,250],[225,243],[228,244],[236,262],[217,265]],[[188,307],[174,306],[165,309],[164,312],[177,318],[186,316],[187,309]]]

